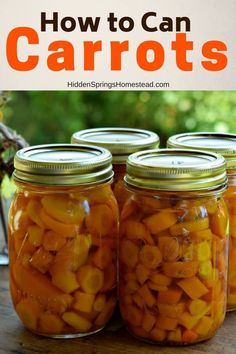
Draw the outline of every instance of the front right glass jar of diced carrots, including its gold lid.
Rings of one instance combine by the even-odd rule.
[[[132,154],[121,213],[119,302],[131,334],[163,345],[214,335],[225,317],[224,158],[191,150]]]

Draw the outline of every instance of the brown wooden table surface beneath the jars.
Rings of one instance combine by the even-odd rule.
[[[54,340],[36,336],[21,325],[8,289],[8,268],[0,267],[0,354],[235,354],[236,312],[227,315],[216,336],[188,347],[158,347],[131,337],[116,323],[99,334],[80,339]]]

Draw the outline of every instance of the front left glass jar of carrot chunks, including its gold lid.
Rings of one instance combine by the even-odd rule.
[[[116,305],[118,206],[108,150],[19,150],[9,213],[10,289],[29,330],[53,338],[101,330]]]

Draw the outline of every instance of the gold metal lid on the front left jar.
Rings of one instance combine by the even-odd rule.
[[[15,180],[44,185],[87,185],[113,176],[111,153],[89,145],[49,144],[17,151]]]

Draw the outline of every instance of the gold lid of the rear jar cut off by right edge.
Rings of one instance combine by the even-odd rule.
[[[236,168],[236,134],[185,133],[171,136],[167,147],[177,149],[198,149],[224,156],[228,169]]]

